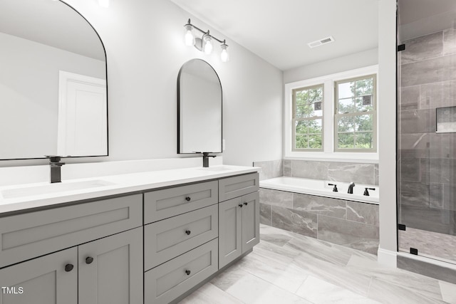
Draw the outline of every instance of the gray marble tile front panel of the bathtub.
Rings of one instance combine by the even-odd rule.
[[[260,223],[376,254],[378,205],[260,188]]]

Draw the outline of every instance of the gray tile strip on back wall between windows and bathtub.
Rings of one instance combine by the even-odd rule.
[[[378,164],[284,159],[284,176],[378,185]]]

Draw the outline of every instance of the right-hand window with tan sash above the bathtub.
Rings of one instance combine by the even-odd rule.
[[[335,151],[376,151],[375,83],[375,75],[335,83]]]

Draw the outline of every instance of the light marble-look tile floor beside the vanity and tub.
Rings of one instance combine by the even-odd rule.
[[[456,303],[456,285],[380,266],[377,256],[261,224],[261,242],[182,300],[225,303]]]

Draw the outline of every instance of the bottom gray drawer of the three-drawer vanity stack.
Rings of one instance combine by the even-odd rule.
[[[145,273],[145,304],[170,303],[218,270],[218,239]],[[187,271],[187,273],[186,273]]]

